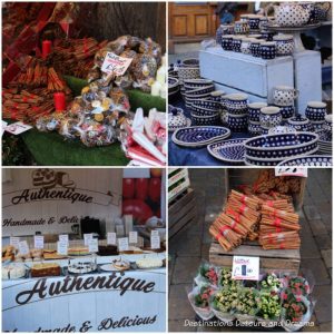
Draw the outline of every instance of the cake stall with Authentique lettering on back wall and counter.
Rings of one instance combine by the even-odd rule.
[[[144,168],[4,169],[3,330],[165,331],[164,180]]]

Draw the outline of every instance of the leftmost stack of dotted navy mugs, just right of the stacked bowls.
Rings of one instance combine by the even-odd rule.
[[[247,130],[248,96],[246,94],[229,94],[222,98],[223,107],[227,110],[227,125],[233,132]]]

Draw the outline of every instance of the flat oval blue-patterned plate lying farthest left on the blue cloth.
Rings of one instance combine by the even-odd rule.
[[[229,137],[230,130],[216,126],[195,126],[176,130],[171,140],[180,146],[202,147]]]

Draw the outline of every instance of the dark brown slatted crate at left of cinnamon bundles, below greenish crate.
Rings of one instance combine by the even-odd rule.
[[[168,208],[168,238],[173,238],[197,216],[194,190],[188,188],[186,194],[176,198]]]

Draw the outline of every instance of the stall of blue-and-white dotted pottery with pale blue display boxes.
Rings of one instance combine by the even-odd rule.
[[[171,65],[169,164],[332,166],[322,53],[301,39],[331,24],[330,8],[281,3],[243,13],[218,28],[216,41],[203,41],[198,59]]]

